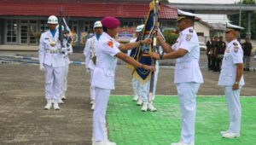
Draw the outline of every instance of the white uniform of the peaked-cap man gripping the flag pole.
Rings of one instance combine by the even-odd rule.
[[[200,48],[198,37],[193,27],[184,29],[179,34],[173,50],[186,49],[188,53],[176,60],[174,83],[177,86],[182,117],[180,142],[194,144],[195,142],[195,111],[196,93],[203,83],[199,67]]]

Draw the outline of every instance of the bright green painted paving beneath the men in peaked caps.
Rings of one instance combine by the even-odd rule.
[[[108,103],[108,131],[118,145],[170,145],[180,135],[177,96],[158,96],[155,113],[140,111],[131,96],[111,96]],[[197,97],[196,145],[255,145],[256,97],[242,97],[241,137],[224,139],[219,132],[228,129],[228,108],[224,97]]]

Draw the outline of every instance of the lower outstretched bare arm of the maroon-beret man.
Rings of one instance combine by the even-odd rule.
[[[141,64],[140,62],[134,60],[132,57],[122,53],[122,52],[119,52],[118,54],[115,55],[116,57],[118,57],[119,59],[131,64],[133,67],[141,67],[141,68],[144,68],[148,71],[151,71],[151,72],[155,72],[155,67],[152,67],[152,66],[147,66],[147,65],[143,65]]]

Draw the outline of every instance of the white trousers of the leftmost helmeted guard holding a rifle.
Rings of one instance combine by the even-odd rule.
[[[49,67],[44,65],[45,98],[58,101],[61,97],[61,78],[63,67]]]

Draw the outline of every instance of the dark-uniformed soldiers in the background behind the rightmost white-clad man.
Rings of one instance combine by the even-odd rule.
[[[241,43],[240,43],[241,44]],[[250,60],[253,56],[253,46],[249,38],[245,38],[245,42],[241,44],[243,49],[244,71],[250,71]],[[207,59],[208,70],[213,72],[220,72],[221,62],[224,58],[226,43],[223,37],[212,37],[207,41]]]

